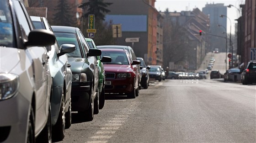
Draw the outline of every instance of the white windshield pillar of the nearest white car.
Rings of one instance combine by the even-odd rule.
[[[31,31],[31,29],[29,27],[29,23],[27,22],[27,17],[24,14],[26,11],[23,11],[19,1],[16,1],[16,0],[13,1],[13,4],[15,5],[15,9],[17,11],[16,15],[17,15],[17,18],[19,20],[22,37],[25,40],[28,40],[27,36],[28,36],[29,32]]]

